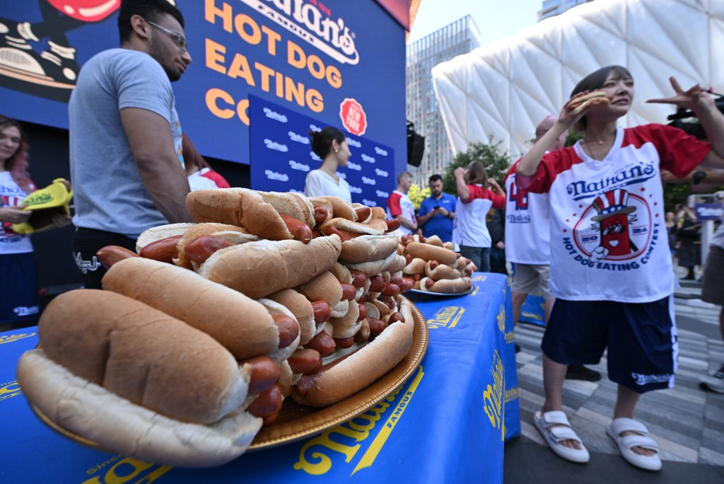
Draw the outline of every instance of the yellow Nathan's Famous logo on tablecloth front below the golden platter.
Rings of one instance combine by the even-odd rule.
[[[408,386],[407,390],[397,390],[376,404],[366,412],[359,414],[357,417],[334,427],[332,430],[312,438],[304,444],[299,451],[299,461],[295,462],[295,470],[303,470],[307,474],[322,475],[332,469],[332,457],[336,454],[344,456],[345,462],[352,462],[355,455],[361,450],[361,442],[366,441],[372,431],[382,423],[376,437],[369,443],[367,450],[358,461],[352,474],[358,470],[371,467],[377,455],[382,451],[387,438],[395,430],[395,425],[403,417],[405,409],[410,404],[412,397],[417,390],[422,377],[424,377],[422,367],[418,367],[417,373]],[[395,401],[397,404],[395,405]],[[394,405],[394,409],[389,413],[387,420],[382,420],[387,410]],[[390,450],[394,452],[394,449]],[[307,459],[307,457],[311,459]]]

